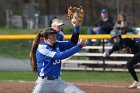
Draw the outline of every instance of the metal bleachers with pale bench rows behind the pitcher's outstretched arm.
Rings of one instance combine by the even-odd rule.
[[[83,70],[109,70],[113,71],[114,69],[120,70],[123,67],[123,70],[126,70],[125,65],[126,65],[126,58],[133,57],[133,54],[127,54],[127,53],[113,53],[109,58],[104,58],[102,49],[102,46],[86,46],[84,47],[79,53],[76,53],[73,55],[77,59],[66,59],[63,60],[63,65],[62,69],[68,68],[66,64],[77,64],[77,67],[71,67],[69,68],[70,70],[76,69],[76,70],[81,70],[82,68],[80,66],[84,66]],[[93,50],[100,50],[98,53],[89,53],[88,48],[93,49]],[[105,47],[105,50],[110,49],[111,47]],[[83,57],[83,58],[82,58]],[[92,58],[92,59],[90,59]],[[125,59],[123,59],[125,58]],[[116,60],[119,59],[119,60]],[[114,68],[114,69],[113,69]]]

